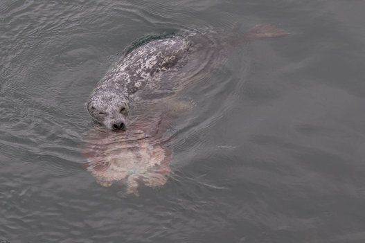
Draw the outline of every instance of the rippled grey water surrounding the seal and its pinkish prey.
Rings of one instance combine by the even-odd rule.
[[[365,2],[0,2],[0,240],[365,242]],[[172,175],[85,169],[89,93],[150,34],[274,24],[186,91]]]

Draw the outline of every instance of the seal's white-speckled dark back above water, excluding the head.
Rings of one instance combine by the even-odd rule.
[[[116,69],[98,84],[96,92],[114,90],[132,96],[153,82],[156,74],[167,71],[186,57],[188,40],[172,37],[149,42],[127,55]]]

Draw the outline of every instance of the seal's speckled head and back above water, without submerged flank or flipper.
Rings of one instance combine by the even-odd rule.
[[[87,104],[89,114],[109,129],[124,129],[135,94],[158,87],[163,73],[186,62],[191,46],[186,37],[173,36],[134,49],[97,84]]]

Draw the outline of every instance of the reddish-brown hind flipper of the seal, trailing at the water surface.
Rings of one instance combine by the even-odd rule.
[[[258,24],[253,26],[249,32],[244,34],[244,39],[262,39],[271,37],[282,37],[289,35],[285,30],[276,28],[271,24]]]

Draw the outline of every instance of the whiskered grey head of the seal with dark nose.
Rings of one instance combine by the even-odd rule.
[[[123,94],[96,91],[87,102],[87,110],[96,123],[119,131],[126,127],[130,102]]]

